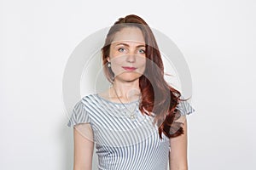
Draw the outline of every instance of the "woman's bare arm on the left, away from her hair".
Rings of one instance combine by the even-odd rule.
[[[73,170],[91,170],[94,142],[90,123],[75,125],[73,139]]]

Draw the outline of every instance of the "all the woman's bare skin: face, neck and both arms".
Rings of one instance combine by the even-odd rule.
[[[139,98],[139,77],[146,66],[145,41],[143,33],[136,27],[127,27],[117,32],[110,46],[108,62],[114,73],[113,88],[99,94],[102,98],[119,103]],[[133,66],[135,71],[126,71],[122,66]],[[117,97],[118,96],[118,97]],[[118,99],[119,98],[119,99]],[[170,139],[172,150],[169,155],[170,169],[186,170],[187,164],[187,122],[183,124],[184,134]],[[74,130],[74,170],[91,170],[93,156],[93,134],[89,123],[76,125]]]

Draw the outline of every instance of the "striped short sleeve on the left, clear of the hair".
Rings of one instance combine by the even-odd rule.
[[[69,118],[67,123],[68,127],[73,127],[79,123],[89,123],[90,116],[89,113],[85,110],[85,105],[83,100],[81,99],[76,105],[73,107],[72,115]]]

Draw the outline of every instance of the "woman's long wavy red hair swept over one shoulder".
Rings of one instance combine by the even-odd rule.
[[[142,94],[139,110],[148,116],[154,113],[154,122],[159,127],[160,139],[162,139],[162,133],[166,134],[168,138],[177,137],[183,134],[183,127],[180,126],[183,123],[175,122],[181,116],[176,107],[181,100],[186,99],[181,99],[181,93],[172,88],[164,79],[164,65],[153,31],[139,16],[130,14],[119,18],[110,27],[102,48],[102,65],[105,76],[109,82],[113,82],[113,71],[106,66],[110,46],[115,33],[128,26],[139,28],[143,32],[146,43],[146,68],[143,75],[139,77],[139,88]]]

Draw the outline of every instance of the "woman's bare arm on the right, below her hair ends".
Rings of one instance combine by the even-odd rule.
[[[187,121],[182,125],[184,134],[170,139],[171,152],[169,155],[170,170],[187,170]]]

